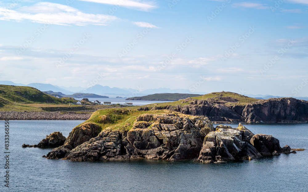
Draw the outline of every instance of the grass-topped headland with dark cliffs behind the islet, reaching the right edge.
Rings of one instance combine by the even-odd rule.
[[[308,122],[308,102],[295,98],[249,98],[231,92],[215,92],[138,110],[168,109],[184,114],[205,115],[213,122],[298,123]]]

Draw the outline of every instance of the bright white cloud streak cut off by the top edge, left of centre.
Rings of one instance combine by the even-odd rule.
[[[130,0],[79,0],[79,1],[95,2],[95,3],[109,4],[115,6],[124,6],[143,11],[148,11],[156,8],[153,2],[145,2],[145,1],[142,2],[130,1]]]

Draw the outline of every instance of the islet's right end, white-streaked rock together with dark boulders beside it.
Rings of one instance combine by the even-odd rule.
[[[228,162],[252,160],[262,156],[294,153],[289,146],[283,148],[272,135],[253,134],[241,123],[237,128],[219,125],[206,135],[196,162]],[[295,152],[296,153],[296,152]]]

